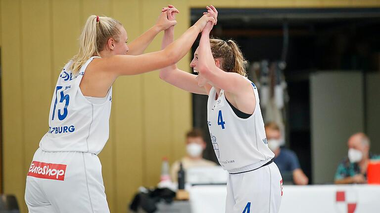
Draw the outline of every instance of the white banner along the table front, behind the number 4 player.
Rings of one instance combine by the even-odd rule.
[[[192,213],[224,213],[226,185],[193,186]],[[284,185],[280,213],[380,213],[380,185]]]

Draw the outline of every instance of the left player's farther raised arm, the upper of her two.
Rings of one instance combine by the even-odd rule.
[[[179,13],[179,11],[176,8],[171,8],[171,12]],[[152,40],[155,36],[157,36],[158,33],[168,29],[170,26],[174,26],[177,24],[176,20],[168,20],[166,16],[166,12],[161,12],[161,14],[158,16],[156,24],[128,45],[129,51],[127,52],[127,54],[142,54],[146,47],[152,42]]]

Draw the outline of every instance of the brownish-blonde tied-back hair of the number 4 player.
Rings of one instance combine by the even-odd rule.
[[[233,40],[210,39],[211,52],[214,59],[221,59],[221,69],[227,72],[237,72],[246,76],[245,61],[238,45]]]

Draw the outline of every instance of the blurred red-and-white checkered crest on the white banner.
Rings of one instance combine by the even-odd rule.
[[[355,213],[357,193],[355,190],[338,190],[335,201],[339,213]]]

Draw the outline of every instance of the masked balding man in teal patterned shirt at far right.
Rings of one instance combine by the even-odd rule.
[[[336,169],[335,184],[366,183],[368,163],[379,160],[380,155],[370,154],[370,139],[364,133],[352,135],[347,145],[348,156]]]

